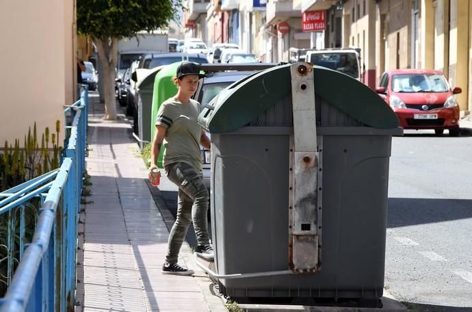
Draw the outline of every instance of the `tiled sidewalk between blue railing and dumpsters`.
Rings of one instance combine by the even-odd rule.
[[[179,263],[196,274],[161,274],[168,229],[144,180],[131,126],[104,121],[98,96],[91,94],[89,103],[86,167],[93,184],[79,224],[76,311],[227,311],[187,244]]]

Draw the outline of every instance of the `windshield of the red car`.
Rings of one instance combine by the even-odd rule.
[[[405,74],[392,78],[393,92],[447,92],[449,86],[443,75]]]

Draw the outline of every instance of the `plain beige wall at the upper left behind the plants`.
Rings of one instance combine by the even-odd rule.
[[[64,126],[63,105],[75,94],[75,3],[62,0],[2,1],[0,77],[0,142],[27,134],[36,122],[38,133]],[[64,129],[61,129],[61,138]],[[3,145],[3,143],[2,143]]]

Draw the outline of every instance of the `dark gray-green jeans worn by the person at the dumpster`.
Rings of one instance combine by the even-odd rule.
[[[194,222],[198,245],[210,244],[207,222],[209,194],[202,175],[189,164],[174,163],[166,166],[165,170],[168,179],[179,187],[177,216],[170,230],[166,254],[166,262],[177,263],[190,222]]]

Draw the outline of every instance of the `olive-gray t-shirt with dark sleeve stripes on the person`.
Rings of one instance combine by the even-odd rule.
[[[175,98],[164,101],[157,112],[156,125],[166,127],[164,138],[163,165],[184,162],[196,170],[202,170],[200,137],[202,127],[198,124],[200,104],[190,99],[189,103],[181,103]]]

